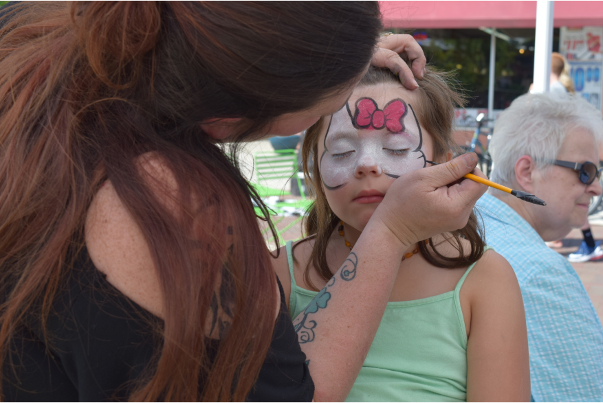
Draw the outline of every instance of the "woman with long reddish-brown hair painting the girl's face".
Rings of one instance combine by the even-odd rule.
[[[420,47],[408,36],[379,41],[376,1],[8,7],[3,399],[345,398],[406,249],[463,227],[483,193],[471,181],[446,186],[476,158],[395,181],[353,270],[336,273],[308,318],[312,338],[298,343],[236,145],[337,111],[371,59],[416,88],[396,52],[420,78]],[[403,191],[420,203],[399,203]]]

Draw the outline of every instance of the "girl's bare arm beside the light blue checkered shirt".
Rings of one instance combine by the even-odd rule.
[[[467,277],[470,327],[467,400],[529,400],[529,354],[525,310],[513,268],[486,251]]]

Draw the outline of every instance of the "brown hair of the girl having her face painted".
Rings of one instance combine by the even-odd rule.
[[[371,67],[358,86],[371,86],[377,84],[401,85],[399,79],[386,69]],[[458,152],[459,147],[452,139],[454,126],[454,108],[463,106],[465,99],[461,93],[455,91],[454,81],[450,74],[436,71],[426,67],[425,77],[415,89],[419,93],[419,107],[417,118],[421,126],[431,135],[433,140],[433,159],[445,159],[448,152]],[[316,200],[309,209],[309,214],[304,220],[304,229],[307,235],[314,235],[314,248],[305,268],[304,279],[308,286],[316,291],[318,288],[312,284],[309,276],[310,265],[314,265],[318,274],[325,280],[331,279],[333,273],[327,264],[327,244],[331,234],[339,223],[338,218],[329,203],[320,184],[320,167],[318,166],[318,137],[325,123],[326,117],[320,119],[308,130],[302,148],[303,169],[309,186],[315,190]],[[309,159],[312,158],[314,167],[309,172]],[[434,266],[442,268],[459,268],[468,266],[481,257],[485,243],[481,227],[475,212],[472,212],[467,225],[450,234],[446,240],[454,246],[459,255],[447,257],[437,250],[437,245],[430,238],[429,243],[419,242],[419,251],[425,259]],[[461,238],[470,242],[470,251],[465,253]]]

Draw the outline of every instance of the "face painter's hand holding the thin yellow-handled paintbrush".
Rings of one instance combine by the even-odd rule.
[[[476,201],[487,189],[486,185],[463,179],[476,164],[477,155],[468,152],[447,163],[400,176],[389,187],[369,224],[385,227],[406,246],[465,227]]]

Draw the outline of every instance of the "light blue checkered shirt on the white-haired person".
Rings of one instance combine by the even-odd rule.
[[[511,207],[490,194],[476,205],[488,245],[513,266],[527,321],[536,402],[603,400],[603,327],[571,264]]]

